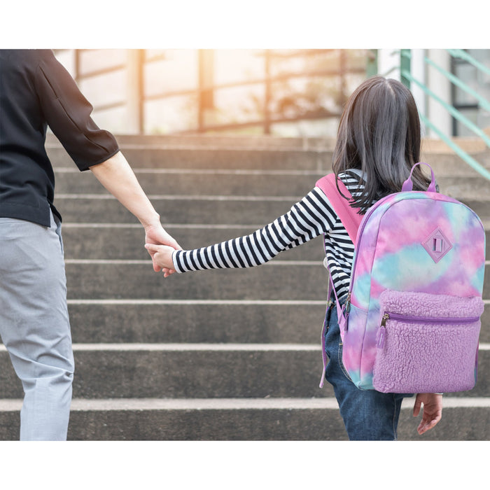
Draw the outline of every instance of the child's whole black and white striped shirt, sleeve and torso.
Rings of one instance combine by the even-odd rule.
[[[360,174],[339,174],[349,192],[362,192]],[[189,251],[174,251],[176,272],[265,264],[279,252],[325,235],[325,255],[338,297],[349,290],[354,246],[328,198],[318,187],[311,190],[283,216],[251,235]]]

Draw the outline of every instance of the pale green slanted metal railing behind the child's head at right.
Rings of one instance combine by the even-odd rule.
[[[458,50],[458,49],[451,49],[447,50],[449,52],[449,55],[454,58],[461,58],[464,59],[466,62],[472,64],[472,66],[475,66],[477,70],[481,71],[482,73],[485,73],[486,75],[490,76],[490,69],[484,64],[478,62],[476,59],[471,57],[467,52],[464,50]],[[490,138],[482,131],[475,123],[472,123],[471,120],[469,120],[466,116],[461,113],[461,111],[458,111],[454,105],[448,104],[445,102],[439,95],[437,95],[433,90],[430,90],[430,88],[424,83],[424,80],[418,80],[415,78],[410,70],[410,62],[411,62],[412,56],[410,53],[410,50],[400,50],[400,78],[405,85],[410,87],[411,83],[414,83],[417,87],[419,87],[428,97],[431,99],[435,100],[438,104],[440,104],[446,111],[448,111],[449,114],[455,119],[458,120],[460,123],[465,125],[470,131],[472,131],[474,134],[476,134],[477,137],[479,137],[484,144],[490,148]],[[459,87],[461,90],[466,92],[467,94],[470,94],[471,97],[473,97],[476,100],[477,107],[483,109],[484,111],[490,111],[490,102],[487,101],[484,97],[482,97],[481,94],[476,92],[475,90],[472,89],[467,83],[463,82],[461,78],[458,78],[454,75],[454,73],[449,73],[449,71],[445,70],[435,62],[433,62],[432,59],[429,59],[428,57],[423,58],[423,62],[427,66],[431,66],[434,69],[436,69],[439,73],[442,74],[447,80],[449,80],[452,84],[454,84],[456,87]],[[461,146],[458,146],[454,139],[451,139],[447,136],[447,134],[444,134],[440,128],[438,128],[432,121],[429,120],[428,117],[426,117],[424,114],[420,114],[421,121],[426,127],[430,128],[430,130],[433,130],[435,134],[437,134],[442,141],[444,141],[445,144],[447,144],[464,162],[466,162],[472,169],[475,169],[476,172],[478,172],[480,175],[484,176],[486,179],[490,180],[490,172],[487,170],[483,165],[475,158],[472,158],[471,155],[469,155],[466,151],[461,148]]]

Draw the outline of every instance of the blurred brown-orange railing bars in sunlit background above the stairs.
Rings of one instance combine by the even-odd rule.
[[[198,50],[198,76],[195,87],[183,90],[157,90],[151,94],[147,94],[145,91],[147,81],[145,80],[145,66],[152,62],[165,59],[165,54],[155,57],[148,55],[148,52],[146,52],[147,50],[131,50],[130,63],[127,65],[116,63],[113,64],[113,66],[107,66],[102,69],[83,71],[80,65],[83,51],[84,50],[75,50],[74,78],[77,82],[83,83],[83,81],[88,78],[109,74],[114,71],[130,70],[133,72],[132,79],[134,80],[135,89],[132,91],[132,94],[125,99],[110,104],[94,104],[94,111],[118,109],[127,105],[130,102],[128,99],[132,99],[130,102],[133,107],[132,119],[137,121],[137,132],[140,134],[144,134],[145,132],[146,104],[179,96],[194,97],[197,117],[194,127],[190,127],[186,130],[173,131],[172,134],[220,132],[227,130],[241,130],[247,127],[261,127],[263,134],[270,134],[272,125],[276,123],[295,123],[301,120],[339,118],[342,113],[342,106],[350,94],[349,89],[346,88],[346,78],[354,73],[359,73],[362,76],[365,76],[366,73],[366,66],[349,65],[349,60],[346,59],[346,50],[262,50],[261,52],[258,52],[258,56],[263,59],[263,76],[239,80],[232,83],[213,83],[214,76],[212,73],[210,74],[209,67],[207,67],[207,65],[212,64],[212,61],[210,63],[209,59],[209,56],[211,56],[212,59],[212,50]],[[313,66],[307,70],[297,72],[275,70],[276,73],[274,73],[273,65],[278,59],[297,57],[306,59],[322,54],[335,57],[335,66],[323,66],[320,68]],[[307,109],[296,108],[297,110],[292,116],[290,114],[286,115],[280,113],[280,111],[274,111],[272,106],[277,102],[277,100],[274,99],[274,84],[287,83],[289,80],[295,78],[310,80],[314,78],[335,78],[339,87],[339,100],[337,100],[336,104],[338,110],[329,110],[321,106],[321,104],[317,104],[316,106],[311,106]],[[214,94],[223,89],[252,85],[262,85],[264,93],[255,118],[241,122],[229,121],[215,124],[207,123],[205,114],[209,109],[214,109]]]

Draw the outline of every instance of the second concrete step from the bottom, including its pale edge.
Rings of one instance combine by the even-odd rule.
[[[74,344],[75,398],[324,398],[321,347],[307,344]],[[489,397],[490,346],[478,353],[478,380],[452,397]],[[2,398],[21,398],[5,349]]]

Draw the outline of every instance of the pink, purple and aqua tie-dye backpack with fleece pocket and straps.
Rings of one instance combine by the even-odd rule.
[[[412,190],[410,173],[402,192],[363,217],[339,196],[334,174],[316,183],[355,244],[349,295],[337,311],[342,361],[358,388],[440,393],[475,386],[485,232],[474,211],[435,191],[430,172],[426,192]],[[324,346],[323,356],[325,367]]]

